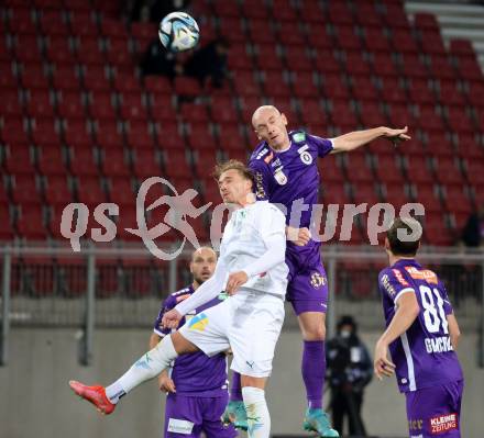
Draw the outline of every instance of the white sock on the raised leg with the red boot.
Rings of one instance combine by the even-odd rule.
[[[168,368],[177,357],[172,336],[165,336],[153,350],[143,355],[121,378],[106,388],[107,397],[111,403],[118,403],[133,388]]]

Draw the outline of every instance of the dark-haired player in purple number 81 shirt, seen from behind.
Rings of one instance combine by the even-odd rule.
[[[376,344],[375,373],[396,374],[411,438],[460,438],[459,325],[443,283],[415,260],[420,235],[411,218],[397,218],[387,232],[389,267],[378,276],[387,328]]]

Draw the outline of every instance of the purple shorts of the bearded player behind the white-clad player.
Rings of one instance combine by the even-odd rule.
[[[165,438],[234,438],[232,425],[223,426],[220,420],[229,394],[222,397],[197,397],[168,394],[165,407]]]

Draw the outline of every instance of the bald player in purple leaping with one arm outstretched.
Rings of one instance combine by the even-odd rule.
[[[320,257],[321,244],[312,239],[309,232],[320,186],[318,159],[328,154],[351,151],[380,137],[393,142],[409,139],[407,128],[376,127],[331,139],[321,138],[304,131],[288,132],[286,116],[271,105],[261,106],[254,112],[252,125],[261,141],[249,160],[249,167],[255,175],[256,196],[283,204],[287,210],[287,300],[296,312],[304,339],[301,373],[308,401],[304,427],[317,431],[321,437],[338,437],[322,411],[328,280]],[[301,204],[306,205],[306,210]],[[298,212],[300,218],[297,220]],[[224,417],[235,417],[235,423],[240,423],[244,415],[242,411],[235,374]]]

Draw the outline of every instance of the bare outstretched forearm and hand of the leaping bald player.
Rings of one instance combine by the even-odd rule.
[[[403,130],[393,130],[386,126],[374,127],[372,130],[354,131],[352,133],[340,135],[332,139],[333,150],[331,154],[348,153],[360,146],[366,145],[376,138],[388,138],[396,146],[399,142],[405,142],[411,137],[407,135],[408,126]]]

